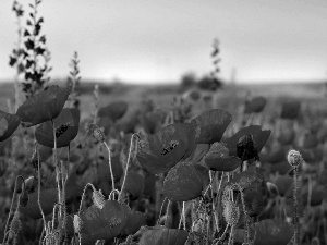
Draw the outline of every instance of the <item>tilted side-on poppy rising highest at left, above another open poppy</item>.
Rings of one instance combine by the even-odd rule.
[[[71,93],[71,87],[60,88],[58,85],[50,86],[27,99],[17,110],[22,122],[34,126],[43,122],[56,119]]]

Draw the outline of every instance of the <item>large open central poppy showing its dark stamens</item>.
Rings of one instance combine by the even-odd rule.
[[[137,160],[153,174],[165,173],[180,160],[190,157],[194,148],[192,125],[190,123],[170,124],[141,142]]]

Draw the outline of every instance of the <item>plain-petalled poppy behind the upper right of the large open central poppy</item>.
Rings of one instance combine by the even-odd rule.
[[[219,142],[231,122],[231,114],[222,109],[206,111],[191,121],[195,128],[196,144]]]

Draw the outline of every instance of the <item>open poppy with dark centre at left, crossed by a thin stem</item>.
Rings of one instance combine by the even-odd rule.
[[[78,133],[80,110],[75,108],[65,108],[53,120],[56,128],[57,147],[69,146]],[[53,127],[50,121],[43,123],[35,131],[35,137],[38,144],[47,147],[55,147]]]

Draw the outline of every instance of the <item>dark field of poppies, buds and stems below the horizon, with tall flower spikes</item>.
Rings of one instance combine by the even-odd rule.
[[[0,85],[0,244],[327,244],[323,85],[86,84],[77,52],[58,85],[40,3]]]

